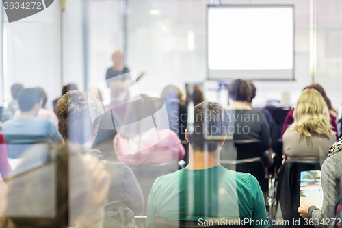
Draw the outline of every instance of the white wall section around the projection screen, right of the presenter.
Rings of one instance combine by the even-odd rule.
[[[204,81],[206,68],[206,5],[209,1],[129,1],[129,40],[127,64],[133,71],[148,71],[140,82],[142,92],[158,96],[164,86],[174,84],[184,91],[184,84]],[[250,1],[221,1],[222,4],[248,4]],[[283,92],[291,94],[294,104],[302,88],[311,84],[310,71],[310,1],[253,0],[253,4],[295,5],[295,81],[255,81],[255,105],[265,105],[269,99],[282,99]],[[160,10],[150,15],[149,10]],[[339,10],[340,11],[339,11]],[[338,61],[329,63],[324,52],[332,31],[340,31],[342,5],[337,0],[317,1],[317,77],[315,81],[326,89],[335,107],[342,101],[340,73],[342,51]],[[330,14],[330,21],[326,15]],[[340,20],[340,21],[339,21]],[[333,26],[332,26],[333,25]],[[187,48],[187,34],[194,32],[194,51]],[[341,46],[341,40],[339,40]],[[341,49],[341,48],[339,48]],[[337,62],[337,63],[336,63]],[[151,83],[152,82],[152,83]],[[211,94],[211,97],[215,97]]]

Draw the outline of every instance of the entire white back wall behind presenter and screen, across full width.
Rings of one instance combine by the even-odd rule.
[[[140,92],[159,96],[168,84],[185,92],[185,83],[205,81],[206,14],[209,0],[127,0],[127,66],[136,75],[146,71],[139,82]],[[309,18],[310,0],[222,0],[222,4],[295,5],[295,81],[255,81],[254,104],[291,94],[295,103],[302,88],[311,84]],[[63,84],[84,85],[83,30],[81,0],[69,0],[64,12]],[[26,87],[42,86],[49,103],[60,96],[60,12],[55,2],[50,8],[8,27],[8,88],[17,81]],[[105,80],[111,53],[123,49],[122,5],[120,0],[90,0],[88,8],[88,84],[91,88]],[[159,15],[150,15],[159,10]],[[317,0],[317,76],[334,107],[342,101],[342,2]],[[194,49],[188,49],[188,33],[194,33]],[[213,82],[211,82],[213,84]],[[215,84],[215,82],[214,82]],[[9,90],[8,90],[9,92]],[[207,92],[209,99],[215,93]],[[10,95],[8,93],[8,95]],[[48,104],[49,104],[48,103]]]

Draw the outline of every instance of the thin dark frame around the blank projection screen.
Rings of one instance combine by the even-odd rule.
[[[226,79],[237,79],[237,78],[211,78],[209,77],[209,34],[208,34],[208,24],[209,24],[209,8],[228,8],[228,7],[241,7],[241,8],[281,8],[281,7],[287,7],[287,8],[292,8],[292,70],[290,69],[289,71],[292,71],[292,79],[247,79],[250,81],[295,81],[295,7],[294,5],[291,4],[284,4],[284,5],[277,5],[277,4],[265,4],[265,5],[240,5],[240,4],[228,4],[228,5],[207,5],[207,20],[206,20],[206,59],[207,59],[207,80],[208,81],[218,81],[218,80],[226,80]],[[222,70],[222,71],[234,71],[234,70]],[[238,70],[239,71],[239,70]],[[248,70],[241,70],[241,71],[248,71]],[[274,71],[274,70],[261,70],[261,71]],[[283,70],[281,70],[283,71]]]

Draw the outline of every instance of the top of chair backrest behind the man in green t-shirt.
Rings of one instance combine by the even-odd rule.
[[[248,223],[243,223],[243,218],[225,219],[210,218],[207,220],[186,221],[186,220],[169,220],[160,216],[155,217],[153,225],[155,228],[198,228],[198,227],[250,227]],[[241,223],[240,223],[241,222]],[[234,223],[236,225],[234,225]],[[212,224],[212,225],[210,225]]]

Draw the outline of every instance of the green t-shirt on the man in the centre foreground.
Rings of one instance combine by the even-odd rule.
[[[147,204],[147,227],[155,216],[170,220],[202,218],[248,218],[267,220],[263,192],[255,177],[223,166],[202,170],[183,168],[159,177],[153,183]]]

